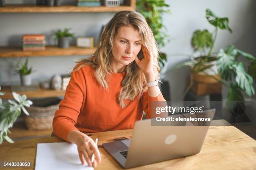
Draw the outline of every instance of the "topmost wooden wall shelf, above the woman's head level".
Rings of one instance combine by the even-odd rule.
[[[133,0],[131,0],[132,2]],[[122,10],[135,10],[135,3],[131,6],[120,7],[77,7],[76,5],[61,5],[55,7],[36,5],[5,5],[0,7],[0,13],[96,13],[96,12],[119,12]]]

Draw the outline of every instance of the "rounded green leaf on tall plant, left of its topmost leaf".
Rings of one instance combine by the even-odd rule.
[[[196,30],[191,38],[195,50],[205,50],[212,45],[212,34],[208,30]]]

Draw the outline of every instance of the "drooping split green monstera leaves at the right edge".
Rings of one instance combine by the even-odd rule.
[[[256,63],[256,58],[253,55],[238,50],[234,45],[228,45],[225,51],[220,49],[220,52],[218,52],[218,73],[223,80],[233,81],[230,84],[228,100],[242,100],[243,98],[239,97],[242,95],[241,90],[245,91],[249,96],[255,94],[253,77],[245,71],[243,62],[238,61],[239,56],[254,61],[248,67],[253,72],[254,63]]]

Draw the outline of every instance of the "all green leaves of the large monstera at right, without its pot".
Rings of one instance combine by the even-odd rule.
[[[231,28],[228,26],[228,18],[220,18],[210,9],[206,9],[205,12],[207,21],[215,27],[215,30],[212,34],[207,30],[196,30],[192,35],[191,44],[196,51],[201,52],[201,57],[198,57],[197,60],[192,60],[192,62],[184,62],[178,65],[189,66],[192,72],[203,72],[210,67],[210,65],[207,65],[207,62],[212,57],[218,29],[228,30],[232,33]],[[212,37],[214,38],[211,40]],[[209,52],[205,55],[205,51],[209,47]],[[248,66],[248,73],[245,71],[243,62],[238,61],[239,56],[243,56],[251,61],[251,64]],[[253,55],[237,49],[234,45],[228,45],[225,50],[220,49],[218,52],[216,65],[221,76],[220,82],[229,87],[228,101],[243,101],[242,91],[246,92],[249,96],[255,94],[253,79],[256,81],[256,58]],[[227,81],[231,81],[230,85],[228,85]]]

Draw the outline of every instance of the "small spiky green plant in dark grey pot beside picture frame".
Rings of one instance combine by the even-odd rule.
[[[55,41],[58,40],[58,47],[69,48],[69,40],[74,37],[74,33],[69,32],[71,28],[64,28],[64,30],[54,30]]]

